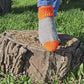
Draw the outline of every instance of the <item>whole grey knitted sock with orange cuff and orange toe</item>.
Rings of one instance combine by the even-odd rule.
[[[59,44],[52,6],[38,8],[39,40],[48,51],[55,51]]]

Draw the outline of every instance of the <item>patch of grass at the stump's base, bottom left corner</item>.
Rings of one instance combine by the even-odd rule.
[[[20,75],[18,78],[16,76],[11,76],[10,74],[4,74],[0,72],[3,78],[0,78],[0,84],[31,84],[30,77],[23,77]]]

